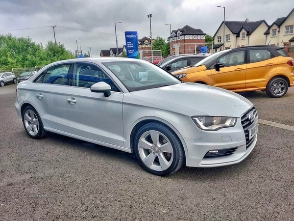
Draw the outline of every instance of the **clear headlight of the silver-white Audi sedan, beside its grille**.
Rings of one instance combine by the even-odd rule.
[[[193,116],[196,125],[205,131],[217,131],[224,127],[234,127],[237,121],[236,117],[221,116]]]

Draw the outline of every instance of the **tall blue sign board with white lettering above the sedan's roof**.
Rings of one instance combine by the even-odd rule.
[[[125,31],[126,56],[139,59],[138,32]]]

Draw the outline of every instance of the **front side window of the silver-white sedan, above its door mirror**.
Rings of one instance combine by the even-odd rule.
[[[115,71],[119,70],[117,67]],[[73,70],[73,86],[90,88],[93,84],[105,82],[112,91],[119,91],[108,75],[98,66],[89,63],[76,62]]]

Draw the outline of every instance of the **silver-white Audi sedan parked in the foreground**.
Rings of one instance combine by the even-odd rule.
[[[58,61],[19,83],[16,96],[29,137],[53,132],[134,153],[156,175],[239,163],[257,141],[257,112],[243,96],[182,83],[139,59]]]

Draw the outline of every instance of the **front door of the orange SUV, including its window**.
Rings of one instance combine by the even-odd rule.
[[[246,85],[246,63],[245,50],[231,52],[218,58],[217,63],[224,63],[225,66],[212,70],[213,86],[227,90],[244,89]]]

